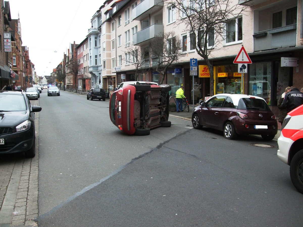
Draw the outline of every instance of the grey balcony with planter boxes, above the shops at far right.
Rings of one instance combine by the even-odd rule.
[[[297,24],[256,32],[254,50],[263,51],[296,45]]]

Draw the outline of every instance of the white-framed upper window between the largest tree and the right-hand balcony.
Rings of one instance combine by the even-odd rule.
[[[226,23],[226,43],[242,40],[242,17]]]

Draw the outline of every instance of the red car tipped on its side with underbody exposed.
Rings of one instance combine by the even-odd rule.
[[[126,85],[116,90],[109,101],[112,123],[127,134],[145,136],[150,129],[170,127],[169,91],[171,85]]]

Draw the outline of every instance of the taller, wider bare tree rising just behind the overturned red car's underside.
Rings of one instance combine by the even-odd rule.
[[[167,69],[173,63],[178,63],[181,57],[182,41],[174,31],[160,33],[150,43],[151,66],[162,75],[160,84],[166,76]]]

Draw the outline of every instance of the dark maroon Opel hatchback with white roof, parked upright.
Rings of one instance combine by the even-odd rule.
[[[275,114],[265,100],[245,94],[217,94],[195,107],[191,117],[195,129],[203,126],[223,131],[226,139],[237,135],[261,135],[272,140],[278,132]]]

